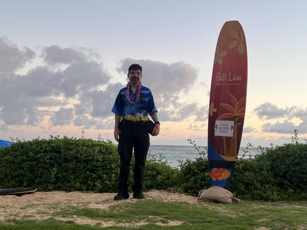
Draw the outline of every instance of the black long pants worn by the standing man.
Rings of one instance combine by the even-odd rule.
[[[135,123],[123,123],[120,127],[118,153],[120,155],[120,171],[118,188],[120,192],[128,191],[128,176],[134,148],[134,185],[132,190],[141,191],[144,177],[144,168],[147,152],[149,149],[149,134],[146,130]]]

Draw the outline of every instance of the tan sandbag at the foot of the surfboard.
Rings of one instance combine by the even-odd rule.
[[[220,202],[224,204],[231,204],[232,202],[239,203],[241,200],[235,198],[235,194],[232,194],[228,190],[220,186],[212,186],[208,189],[203,189],[198,193],[198,201],[206,202]]]

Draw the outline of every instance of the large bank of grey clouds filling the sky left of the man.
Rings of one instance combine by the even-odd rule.
[[[0,62],[0,98],[6,98],[0,101],[0,121],[6,125],[39,125],[44,116],[49,115],[52,116],[50,124],[62,125],[69,124],[79,115],[99,117],[99,113],[104,111],[103,108],[108,109],[109,115],[111,114],[110,100],[114,103],[114,94],[117,94],[119,89],[113,94],[111,87],[114,84],[111,84],[106,91],[98,92],[99,86],[106,86],[111,76],[104,70],[103,64],[99,62],[99,55],[93,50],[44,47],[42,57],[48,65],[32,68],[25,75],[14,74],[13,70],[23,66],[34,56],[35,53],[27,48],[19,50],[8,38],[0,39],[0,59],[5,59],[4,62]],[[8,60],[10,62],[7,62]],[[66,64],[66,67],[54,71],[51,65],[56,63]],[[73,109],[72,112],[68,110],[69,113],[64,113],[64,106],[70,98],[80,102],[80,106],[77,103],[74,107],[75,115]],[[82,101],[82,98],[86,98],[87,102]],[[52,106],[62,108],[57,112],[46,112],[45,108],[41,109]],[[103,113],[102,117],[106,113]],[[62,114],[72,116],[65,120],[61,117]],[[98,125],[99,121],[91,120],[93,117],[87,118],[90,121],[82,119],[86,127],[94,123],[95,126]],[[78,122],[80,123],[80,119]]]

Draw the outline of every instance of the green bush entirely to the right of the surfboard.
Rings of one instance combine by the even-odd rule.
[[[235,190],[242,198],[307,198],[307,144],[284,144],[236,163]],[[230,184],[228,184],[228,188]]]

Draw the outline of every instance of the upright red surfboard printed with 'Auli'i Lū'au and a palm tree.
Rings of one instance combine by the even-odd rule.
[[[227,21],[217,40],[208,121],[212,186],[225,188],[237,160],[245,116],[247,46],[239,21]]]

